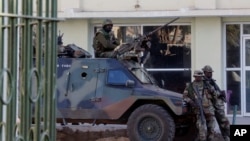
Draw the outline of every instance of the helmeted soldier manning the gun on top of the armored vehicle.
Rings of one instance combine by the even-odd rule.
[[[114,49],[120,45],[118,39],[115,38],[113,32],[113,23],[110,19],[105,19],[102,24],[102,29],[95,33],[93,39],[93,48],[95,57],[109,58],[115,57]]]

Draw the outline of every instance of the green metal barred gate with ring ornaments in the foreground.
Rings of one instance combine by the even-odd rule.
[[[0,140],[55,141],[57,0],[0,6]]]

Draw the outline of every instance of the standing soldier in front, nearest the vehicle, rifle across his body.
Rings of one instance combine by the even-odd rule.
[[[214,139],[215,133],[214,107],[212,104],[215,91],[205,87],[202,81],[203,76],[202,71],[194,71],[194,81],[186,86],[183,92],[183,102],[188,104],[196,115],[197,139],[199,141],[211,141]]]

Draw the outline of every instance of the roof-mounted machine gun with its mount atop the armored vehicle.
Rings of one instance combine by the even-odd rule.
[[[149,55],[149,48],[151,46],[150,43],[150,39],[149,37],[154,34],[156,31],[162,29],[165,26],[168,26],[169,24],[175,22],[176,20],[178,20],[179,17],[171,20],[170,22],[156,28],[155,30],[149,32],[148,34],[145,34],[143,36],[139,36],[136,39],[134,39],[132,42],[129,43],[124,43],[122,45],[120,45],[118,48],[115,49],[115,56],[117,56],[117,58],[129,58],[129,57],[137,57],[137,58],[142,58],[139,55],[139,52],[144,51],[144,60],[139,61],[140,63],[143,63],[146,61],[146,59],[148,58]],[[140,59],[139,59],[140,60]]]

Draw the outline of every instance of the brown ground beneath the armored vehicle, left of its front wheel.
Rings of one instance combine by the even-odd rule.
[[[125,125],[91,124],[57,126],[56,141],[129,141]],[[214,141],[223,141],[220,134],[216,134]]]

